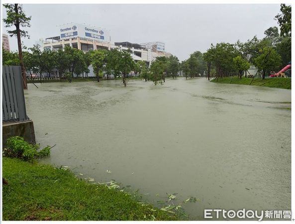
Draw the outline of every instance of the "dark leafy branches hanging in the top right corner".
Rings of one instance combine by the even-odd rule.
[[[281,36],[289,36],[291,37],[292,33],[292,20],[291,20],[291,5],[281,4],[281,12],[282,14],[277,14],[275,19],[278,20],[278,24],[280,25]]]

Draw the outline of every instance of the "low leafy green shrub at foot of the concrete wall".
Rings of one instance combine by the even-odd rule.
[[[26,142],[23,137],[13,136],[7,139],[7,148],[3,149],[3,156],[19,158],[25,161],[34,161],[36,158],[41,158],[44,156],[50,155],[51,147],[47,145],[47,147],[41,149],[39,145],[29,144]]]

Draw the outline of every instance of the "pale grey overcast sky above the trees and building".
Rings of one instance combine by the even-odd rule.
[[[181,61],[210,44],[246,41],[278,26],[280,4],[23,4],[31,27],[27,47],[39,38],[59,35],[59,24],[86,23],[110,30],[111,41],[161,41]],[[6,17],[3,8],[3,17]],[[2,33],[7,33],[2,24]],[[15,37],[10,49],[17,50]]]

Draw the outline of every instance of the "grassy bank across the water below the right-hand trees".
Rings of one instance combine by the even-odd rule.
[[[213,79],[211,82],[213,83],[228,83],[228,84],[242,84],[249,85],[252,81],[252,78],[239,79],[237,76],[225,77],[222,79]],[[281,89],[289,89],[291,90],[291,78],[269,78],[269,79],[260,79],[255,78],[251,84],[252,86],[265,86],[265,87],[273,87],[273,88],[281,88]]]

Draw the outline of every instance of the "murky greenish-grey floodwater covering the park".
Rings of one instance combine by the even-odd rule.
[[[291,90],[167,80],[29,84],[42,162],[114,179],[154,205],[178,193],[204,209],[291,210]],[[107,173],[110,170],[111,173]]]

